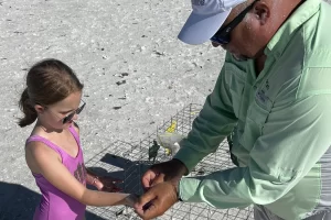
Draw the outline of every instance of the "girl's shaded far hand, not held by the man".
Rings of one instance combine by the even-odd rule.
[[[122,183],[122,180],[109,176],[99,176],[95,177],[93,185],[100,191],[118,193],[122,190],[116,185],[119,183]]]

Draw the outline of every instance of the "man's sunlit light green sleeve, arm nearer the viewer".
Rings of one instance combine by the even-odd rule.
[[[331,95],[274,108],[247,167],[183,178],[180,197],[218,208],[267,205],[288,193],[330,147]]]

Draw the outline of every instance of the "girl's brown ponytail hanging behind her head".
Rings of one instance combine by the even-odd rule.
[[[21,99],[19,101],[19,107],[21,111],[24,113],[24,117],[19,120],[18,124],[21,128],[32,124],[36,120],[38,113],[30,101],[28,88],[24,89],[21,96]]]

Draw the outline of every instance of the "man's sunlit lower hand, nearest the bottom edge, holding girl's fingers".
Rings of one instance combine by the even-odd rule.
[[[162,216],[178,201],[177,186],[171,182],[154,185],[135,205],[136,212],[145,220]]]

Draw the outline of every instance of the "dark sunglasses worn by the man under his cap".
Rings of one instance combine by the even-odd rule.
[[[221,28],[212,37],[211,41],[217,44],[228,44],[231,42],[231,32],[243,21],[248,11],[250,11],[254,4],[259,1],[255,0],[252,4],[249,4],[244,11],[242,11],[232,22],[229,22],[224,28]]]

